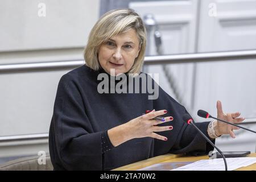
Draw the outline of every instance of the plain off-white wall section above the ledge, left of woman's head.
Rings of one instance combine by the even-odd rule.
[[[46,5],[46,16],[39,16]],[[83,47],[98,18],[98,1],[2,0],[0,50]]]

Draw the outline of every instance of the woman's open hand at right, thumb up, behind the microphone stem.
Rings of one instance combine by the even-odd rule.
[[[240,112],[236,113],[223,113],[222,111],[222,105],[221,101],[217,101],[217,118],[222,119],[224,121],[228,121],[230,123],[241,123],[245,118],[238,118],[240,116]],[[214,128],[215,134],[220,136],[222,134],[229,134],[230,137],[236,138],[236,135],[234,134],[233,130],[238,130],[240,129],[239,127],[233,126],[233,125],[228,125],[227,123],[217,121],[217,125]]]

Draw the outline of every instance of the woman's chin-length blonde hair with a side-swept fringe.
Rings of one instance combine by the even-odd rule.
[[[101,16],[90,31],[87,45],[84,50],[85,64],[94,69],[100,69],[98,49],[101,44],[113,36],[134,29],[139,39],[138,57],[135,59],[129,73],[140,73],[146,50],[146,28],[141,17],[133,9],[111,10]]]

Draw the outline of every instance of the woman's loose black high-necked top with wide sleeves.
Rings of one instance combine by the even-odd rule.
[[[168,152],[204,155],[213,149],[191,125],[182,121],[187,113],[185,107],[160,86],[156,100],[148,100],[150,94],[143,92],[100,94],[99,73],[105,71],[82,65],[60,79],[49,129],[49,152],[55,170],[109,170]],[[154,80],[152,84],[156,84]],[[167,137],[167,141],[145,137],[113,147],[107,130],[153,109],[166,109],[167,114],[162,116],[174,117],[174,121],[158,125],[174,127],[158,133]],[[196,123],[207,137],[208,124]]]

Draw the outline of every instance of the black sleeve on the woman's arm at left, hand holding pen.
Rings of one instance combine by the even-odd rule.
[[[67,170],[102,170],[102,154],[114,146],[107,131],[94,133],[79,85],[70,76],[64,75],[60,79],[52,125],[54,147],[61,166]]]

